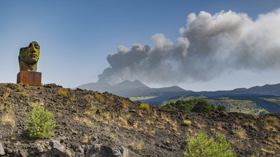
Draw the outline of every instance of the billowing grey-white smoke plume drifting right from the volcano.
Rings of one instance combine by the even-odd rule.
[[[208,81],[231,70],[280,68],[280,9],[258,15],[233,11],[188,15],[175,45],[163,34],[152,36],[154,47],[134,44],[109,54],[110,64],[99,82],[123,80],[151,83]]]

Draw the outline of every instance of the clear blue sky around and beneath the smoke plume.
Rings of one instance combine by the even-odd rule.
[[[221,10],[246,13],[252,20],[272,12],[280,1],[0,1],[0,82],[15,83],[18,53],[36,40],[41,45],[42,82],[77,87],[97,82],[118,46],[150,45],[162,33],[173,43],[190,13]],[[280,83],[280,70],[235,70],[207,81],[145,82],[153,87],[179,85],[195,91]]]

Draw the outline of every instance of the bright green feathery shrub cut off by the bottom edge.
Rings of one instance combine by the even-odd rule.
[[[236,156],[236,153],[230,151],[230,143],[225,140],[225,135],[216,133],[217,141],[214,141],[213,137],[208,140],[207,133],[204,130],[190,137],[188,142],[188,149],[185,156],[199,157],[199,156]]]

